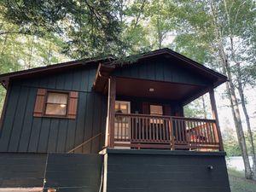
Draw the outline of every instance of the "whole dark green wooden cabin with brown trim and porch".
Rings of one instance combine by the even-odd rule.
[[[1,74],[0,189],[230,192],[214,98],[226,80],[171,49]],[[206,93],[212,119],[184,117]]]

